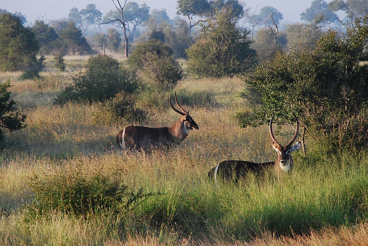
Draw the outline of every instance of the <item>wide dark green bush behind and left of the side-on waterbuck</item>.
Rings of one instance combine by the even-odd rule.
[[[105,101],[125,91],[132,93],[138,88],[135,77],[122,67],[118,60],[99,54],[87,61],[86,72],[73,75],[74,84],[69,85],[57,96],[56,101]]]

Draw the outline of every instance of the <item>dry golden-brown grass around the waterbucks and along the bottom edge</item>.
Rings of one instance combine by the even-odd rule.
[[[69,67],[83,67],[87,58],[65,57]],[[121,239],[115,232],[108,233],[111,218],[86,222],[61,214],[52,214],[51,221],[37,220],[31,227],[24,225],[23,215],[15,211],[32,199],[29,178],[35,174],[48,175],[60,167],[80,168],[85,175],[122,172],[124,182],[132,187],[173,191],[190,184],[194,188],[210,186],[207,184],[207,172],[224,159],[262,162],[275,158],[266,126],[241,129],[237,125],[235,113],[248,107],[238,97],[243,87],[238,78],[186,80],[180,89],[212,91],[221,107],[188,107],[200,130],[191,131],[177,148],[125,155],[115,143],[116,134],[125,126],[118,123],[104,126],[96,124],[93,105],[53,104],[56,93],[70,81],[68,74],[45,72],[41,75],[48,79],[43,81],[17,80],[20,73],[0,74],[0,80],[11,78],[12,91],[18,93],[20,105],[28,110],[27,128],[7,132],[6,147],[1,153],[0,244],[368,245],[368,226],[365,223],[348,228],[327,227],[293,238],[276,237],[267,232],[251,241],[224,240],[227,238],[225,232],[219,228],[213,228],[210,234],[212,238],[207,238],[208,235],[195,239],[191,236],[178,238],[175,234],[162,237],[152,233],[145,236],[128,234],[127,238]],[[179,118],[172,110],[152,112],[145,124],[149,127],[170,126]],[[283,132],[288,134],[278,135],[277,139],[287,142],[293,129],[288,127]]]

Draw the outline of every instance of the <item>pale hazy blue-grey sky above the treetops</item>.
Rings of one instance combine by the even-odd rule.
[[[326,3],[332,0],[325,0]],[[115,1],[116,2],[116,1]],[[121,3],[124,0],[120,1]],[[128,0],[139,5],[146,3],[150,9],[166,9],[171,19],[176,16],[177,0]],[[313,0],[240,0],[240,3],[250,8],[253,12],[256,7],[259,10],[265,6],[271,6],[280,11],[284,20],[289,22],[301,22],[300,14],[311,7]],[[69,10],[73,7],[84,9],[87,4],[95,4],[103,14],[115,9],[111,0],[0,0],[0,8],[9,12],[21,12],[27,18],[27,25],[34,23],[38,18],[43,20],[68,17]],[[340,18],[343,16],[340,16]]]

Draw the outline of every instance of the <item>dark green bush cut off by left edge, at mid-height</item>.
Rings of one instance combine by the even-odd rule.
[[[26,115],[16,108],[14,94],[9,92],[10,78],[5,83],[0,83],[0,141],[3,140],[3,128],[12,131],[21,130],[26,125]]]

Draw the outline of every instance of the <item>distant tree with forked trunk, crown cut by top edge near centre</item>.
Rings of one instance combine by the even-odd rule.
[[[183,15],[187,17],[189,30],[188,36],[190,35],[190,31],[192,27],[196,24],[192,24],[193,16],[204,16],[206,12],[210,10],[211,6],[207,0],[178,0],[178,15]]]

